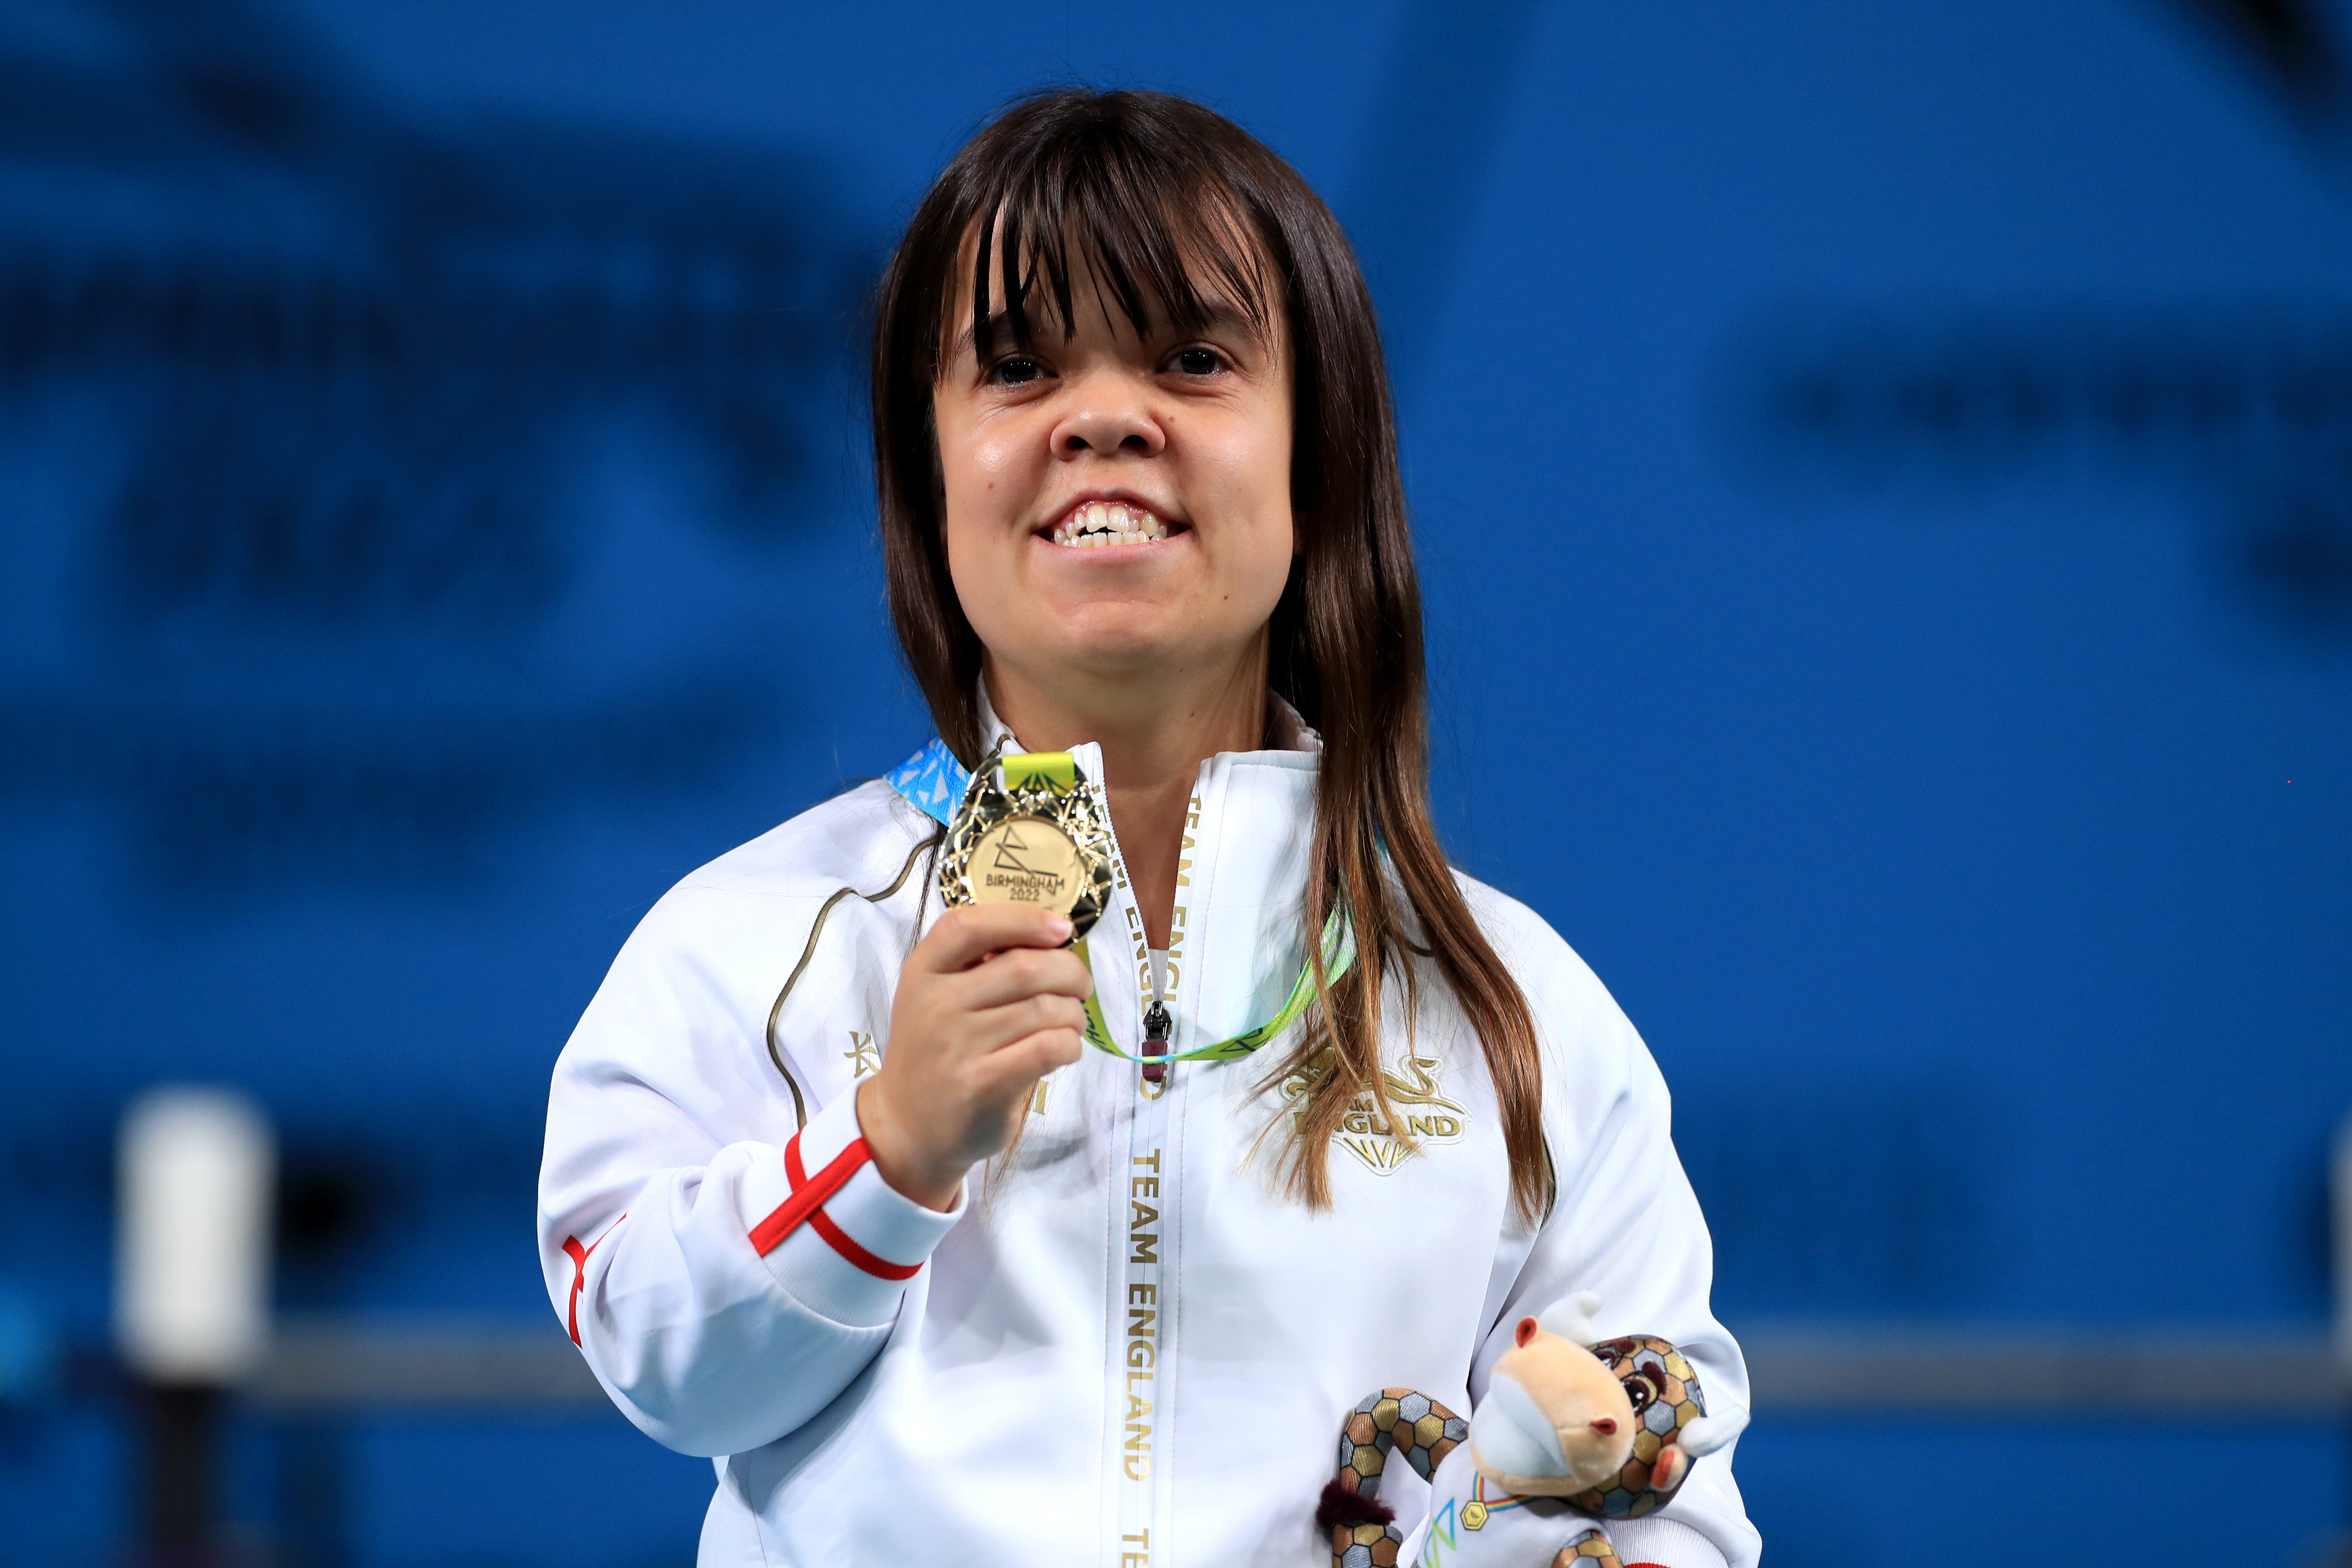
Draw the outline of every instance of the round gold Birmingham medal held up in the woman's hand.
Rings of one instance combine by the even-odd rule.
[[[938,893],[1023,903],[1070,917],[1073,940],[1110,905],[1110,823],[1070,752],[1018,752],[981,764],[948,825]]]

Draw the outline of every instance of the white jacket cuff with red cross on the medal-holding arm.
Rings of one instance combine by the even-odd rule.
[[[802,1182],[818,1180],[856,1140],[856,1095],[849,1093],[816,1112],[802,1128],[797,1140]],[[746,1232],[788,1204],[793,1187],[783,1152],[755,1161],[743,1175]],[[866,1159],[826,1199],[818,1211],[823,1222],[811,1215],[795,1225],[764,1262],[776,1284],[811,1312],[851,1328],[873,1328],[898,1314],[906,1272],[922,1267],[931,1248],[964,1218],[964,1194],[957,1194],[948,1213],[924,1208],[884,1182]],[[823,1234],[828,1227],[837,1234]]]

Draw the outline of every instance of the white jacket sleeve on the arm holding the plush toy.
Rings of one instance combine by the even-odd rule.
[[[1708,1295],[1715,1246],[1675,1154],[1665,1079],[1642,1037],[1592,971],[1543,933],[1538,964],[1515,964],[1545,1034],[1545,1143],[1557,1199],[1517,1276],[1503,1284],[1470,1375],[1472,1401],[1522,1316],[1592,1291],[1602,1338],[1649,1333],[1691,1359],[1708,1415],[1748,1415],[1748,1363]],[[1534,973],[1531,973],[1534,971]],[[1693,1460],[1672,1502],[1646,1519],[1609,1521],[1625,1563],[1752,1568],[1762,1540],[1731,1479],[1733,1446]]]

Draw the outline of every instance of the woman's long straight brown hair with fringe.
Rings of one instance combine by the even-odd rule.
[[[948,578],[931,393],[974,233],[978,343],[990,336],[993,296],[1023,346],[1047,315],[1070,331],[1073,254],[1105,306],[1138,331],[1155,313],[1176,331],[1197,331],[1209,317],[1202,273],[1261,327],[1272,310],[1284,313],[1296,362],[1298,559],[1275,607],[1268,679],[1324,743],[1305,907],[1322,1016],[1270,1077],[1317,1074],[1294,1107],[1284,1180],[1310,1206],[1329,1206],[1331,1135],[1367,1088],[1381,1117],[1402,1128],[1381,1074],[1378,997],[1383,978],[1402,978],[1411,1016],[1411,947],[1437,966],[1486,1051],[1512,1199],[1534,1218],[1550,1180],[1536,1025],[1470,917],[1430,820],[1421,581],[1381,331],[1348,237],[1298,172],[1258,139],[1157,92],[1073,87],[1030,96],[941,172],[882,275],[875,489],[898,644],[941,738],[967,766],[981,748],[981,639]],[[1331,910],[1355,924],[1357,964],[1327,983],[1312,933]],[[1319,1072],[1324,1051],[1329,1072]]]

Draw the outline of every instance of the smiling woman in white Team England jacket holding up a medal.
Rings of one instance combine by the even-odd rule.
[[[1571,1291],[1743,1410],[1649,1053],[1437,846],[1371,301],[1298,174],[1181,99],[1016,106],[898,244],[873,407],[938,741],[673,889],[548,1107],[548,1291],[717,1460],[701,1561],[1322,1563],[1348,1410],[1468,1410]],[[1108,804],[1082,947],[941,907],[1011,752]],[[1755,1561],[1729,1453],[1618,1547]]]

